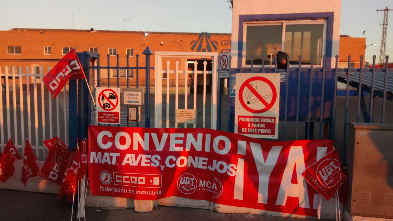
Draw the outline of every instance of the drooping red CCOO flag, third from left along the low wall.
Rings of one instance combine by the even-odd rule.
[[[53,183],[61,184],[70,156],[68,146],[58,137],[53,137],[50,140],[44,141],[44,144],[49,149],[48,157],[38,175]]]

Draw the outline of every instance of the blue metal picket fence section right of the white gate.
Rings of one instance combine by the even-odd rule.
[[[388,58],[386,56],[386,67]],[[276,58],[271,67],[265,65],[264,57],[261,59],[262,66],[255,67],[253,65],[254,58],[251,58],[250,67],[231,68],[229,71],[233,76],[236,73],[285,72],[287,80],[281,82],[280,88],[279,140],[314,139],[314,132],[317,132],[318,139],[335,140],[336,147],[342,150],[343,159],[345,159],[346,124],[354,121],[361,122],[360,110],[364,122],[392,122],[393,117],[387,116],[386,110],[389,110],[387,107],[393,108],[393,102],[391,102],[393,98],[393,69],[375,68],[375,56],[373,57],[373,68],[338,68],[338,56],[335,59],[334,68],[326,67],[325,56],[323,56],[323,66],[314,68],[313,57],[311,57],[311,64],[306,66],[301,63],[302,59],[299,56],[298,67],[290,67],[287,64],[286,69],[278,69]],[[360,67],[363,67],[363,56],[360,57],[360,60]],[[231,62],[231,57],[229,62]],[[348,56],[348,67],[351,67],[351,56]],[[347,80],[348,76],[349,80]],[[342,97],[337,96],[338,82],[346,84],[345,101]],[[231,89],[233,83],[232,85],[231,81],[229,83]],[[357,95],[351,96],[349,91],[356,91]],[[381,98],[378,104],[376,104],[376,96]],[[356,108],[349,106],[349,101],[354,99],[357,100]],[[220,107],[222,93],[219,93],[218,100]],[[368,107],[365,100],[369,101]],[[233,132],[235,98],[228,96],[228,103],[230,106],[228,131]],[[376,109],[381,112],[378,117],[375,116]],[[219,109],[218,121],[221,121],[222,111]],[[348,117],[349,113],[352,114],[354,111],[356,111],[356,118]],[[300,122],[305,123],[303,132],[300,130]],[[319,124],[319,127],[314,129],[314,123]]]

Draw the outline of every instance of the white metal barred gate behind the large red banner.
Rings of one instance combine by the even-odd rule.
[[[166,128],[178,128],[178,124],[174,121],[171,121],[171,117],[174,117],[174,109],[196,109],[196,115],[200,115],[202,112],[202,121],[197,117],[197,123],[193,124],[193,128],[205,128],[207,122],[207,115],[210,115],[210,127],[211,129],[217,128],[217,52],[182,52],[182,51],[156,51],[155,54],[155,71],[154,71],[154,127],[162,128],[163,127],[163,118],[165,121],[164,127]],[[166,60],[166,62],[165,62]],[[180,61],[179,61],[180,60]],[[197,61],[196,60],[204,60],[203,63],[203,71],[197,70]],[[163,61],[165,62],[163,64]],[[172,69],[171,69],[172,62]],[[173,62],[176,68],[173,68]],[[182,66],[181,62],[184,64]],[[188,70],[188,63],[193,63],[192,70]],[[208,62],[211,62],[211,71],[207,70]],[[164,65],[164,66],[163,66]],[[179,67],[180,65],[180,67]],[[166,79],[163,79],[163,75],[165,75]],[[193,76],[194,81],[193,85],[189,85],[189,75]],[[203,92],[202,95],[197,95],[197,87],[198,87],[198,75],[203,76]],[[211,75],[211,105],[207,102],[209,96],[207,95],[206,86],[208,79],[208,75]],[[172,79],[171,79],[172,77]],[[202,79],[202,77],[200,78]],[[182,88],[179,86],[179,81],[184,80],[184,85]],[[165,86],[165,109],[162,109],[163,106],[163,82]],[[171,88],[172,85],[172,88]],[[191,95],[188,95],[188,87],[193,86],[193,104],[188,103],[188,97],[191,98]],[[184,89],[183,89],[184,88]],[[170,98],[170,94],[173,95],[173,89],[175,97]],[[184,90],[184,91],[182,91]],[[191,89],[190,89],[191,90]],[[184,100],[179,99],[179,93],[184,92]],[[192,92],[192,91],[190,91]],[[173,105],[173,99],[175,104]],[[172,100],[172,103],[170,102]],[[179,101],[184,101],[184,106],[179,107]],[[197,102],[199,101],[199,102]],[[208,105],[207,105],[208,104]],[[174,108],[170,108],[170,106],[174,106]],[[202,109],[202,110],[200,110]],[[165,115],[165,117],[163,117]],[[174,119],[174,118],[173,118]],[[184,128],[187,128],[187,124],[184,124]],[[160,205],[170,205],[170,206],[185,206],[185,207],[193,207],[193,208],[204,208],[211,209],[211,204],[209,201],[205,200],[193,200],[186,199],[182,197],[167,197],[164,199],[159,199],[157,201]]]

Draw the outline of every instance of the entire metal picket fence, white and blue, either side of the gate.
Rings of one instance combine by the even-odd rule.
[[[80,54],[80,53],[78,53]],[[151,126],[153,119],[150,117],[150,54],[145,54],[145,65],[139,66],[139,55],[136,55],[136,66],[129,66],[129,57],[126,56],[126,66],[119,65],[117,55],[116,66],[110,65],[107,55],[107,66],[100,66],[100,56],[97,53],[84,53],[89,61],[83,64],[86,75],[89,76],[90,88],[94,92],[96,87],[114,86],[120,87],[120,70],[126,70],[124,87],[131,87],[130,73],[134,73],[135,87],[140,88],[139,76],[145,75],[142,87],[146,89],[145,106],[141,107],[141,122],[129,122],[127,119],[128,108],[122,105],[121,124],[118,126],[139,127],[143,122],[145,127]],[[386,57],[386,67],[388,63]],[[393,69],[375,68],[375,56],[373,68],[338,68],[338,56],[335,67],[326,67],[326,57],[323,57],[323,66],[315,68],[311,64],[301,63],[299,57],[298,67],[286,69],[277,68],[277,60],[272,62],[272,67],[253,65],[250,67],[230,69],[230,75],[236,73],[286,73],[287,80],[281,82],[280,110],[279,110],[279,140],[295,139],[332,139],[335,146],[342,151],[345,159],[345,140],[347,122],[381,122],[393,123],[393,117],[386,110],[393,109]],[[218,58],[220,60],[220,57]],[[289,58],[288,58],[289,60]],[[360,66],[363,67],[363,57],[360,57]],[[229,57],[229,66],[231,57]],[[348,57],[348,66],[351,66],[351,56]],[[47,149],[42,141],[53,136],[58,136],[66,144],[72,140],[69,133],[69,110],[68,110],[68,85],[57,96],[51,99],[51,94],[41,80],[44,77],[44,68],[26,67],[0,67],[2,87],[0,87],[0,139],[1,150],[4,150],[7,140],[11,138],[19,148],[21,154],[24,151],[24,142],[28,138],[36,151],[39,159],[44,159]],[[51,67],[48,67],[48,71]],[[107,70],[104,77],[100,74],[102,69]],[[114,80],[110,70],[116,70]],[[222,70],[219,70],[219,72]],[[187,71],[191,73],[192,71]],[[163,71],[163,73],[166,73]],[[171,71],[169,71],[171,73]],[[202,73],[202,72],[201,72]],[[218,74],[219,75],[219,74]],[[112,79],[112,81],[111,81]],[[347,80],[349,79],[349,80]],[[4,80],[4,81],[3,81]],[[234,128],[234,104],[235,98],[222,94],[222,79],[219,79],[219,93],[217,97],[217,129],[223,127],[229,132]],[[4,82],[4,83],[3,83]],[[337,96],[337,83],[345,83],[345,96]],[[229,81],[231,88],[231,81]],[[233,85],[232,85],[233,86]],[[205,96],[205,94],[204,94]],[[154,99],[154,98],[153,98]],[[195,103],[195,100],[194,100]],[[228,109],[227,109],[228,105]],[[90,124],[95,124],[94,106],[89,107],[91,113]],[[154,108],[154,107],[153,107]],[[206,112],[211,111],[206,109]],[[138,111],[137,111],[138,113]],[[215,113],[212,113],[215,114]],[[228,115],[222,118],[223,115]],[[90,116],[90,115],[89,115]],[[303,124],[302,124],[303,123]],[[315,125],[314,125],[315,124]],[[314,128],[314,126],[316,126]],[[71,131],[71,130],[70,130]],[[316,134],[316,136],[314,136]],[[69,145],[69,144],[68,144]]]

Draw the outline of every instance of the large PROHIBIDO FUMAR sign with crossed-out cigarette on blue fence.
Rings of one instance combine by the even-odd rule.
[[[235,133],[278,139],[280,75],[237,73]]]

